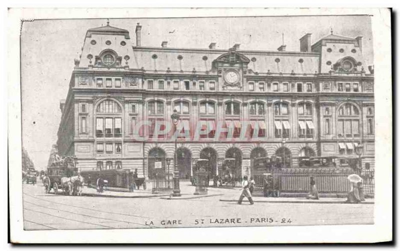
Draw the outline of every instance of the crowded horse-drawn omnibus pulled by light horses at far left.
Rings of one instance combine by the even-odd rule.
[[[78,174],[73,157],[56,158],[47,167],[47,175],[42,177],[46,193],[51,190],[58,194],[59,189],[63,194],[81,195],[83,178]]]

